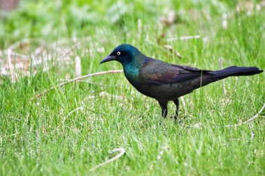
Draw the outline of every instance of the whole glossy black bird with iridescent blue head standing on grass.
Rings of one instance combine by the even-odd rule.
[[[232,76],[259,74],[258,67],[227,67],[223,70],[200,70],[195,67],[165,63],[142,54],[136,47],[123,44],[116,47],[101,63],[118,61],[128,81],[140,93],[158,101],[162,116],[167,116],[167,103],[176,104],[179,111],[179,97],[191,93],[209,83]]]

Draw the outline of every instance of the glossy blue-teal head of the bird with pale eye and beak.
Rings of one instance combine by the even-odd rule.
[[[108,61],[118,61],[122,65],[130,64],[134,61],[137,56],[142,55],[142,53],[132,45],[122,44],[116,47],[109,56],[105,57],[101,63],[106,63]]]

